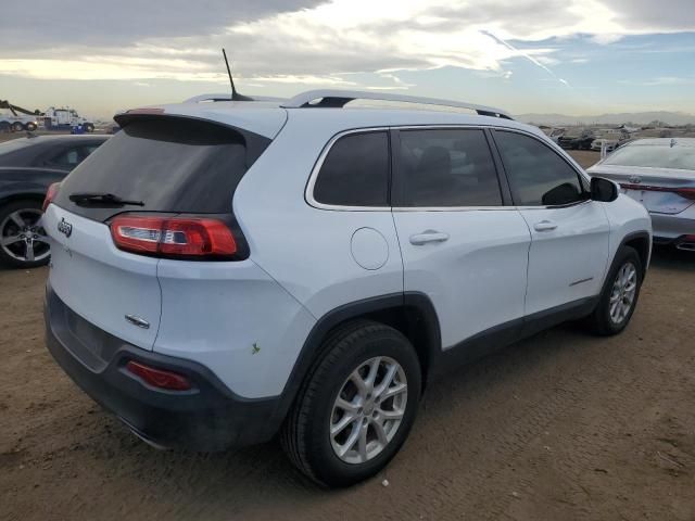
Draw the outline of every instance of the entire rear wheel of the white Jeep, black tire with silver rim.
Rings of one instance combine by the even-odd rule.
[[[321,357],[298,393],[280,441],[294,466],[314,482],[324,486],[349,486],[379,472],[405,442],[420,398],[420,364],[403,334],[370,320],[356,320],[338,328],[323,347]],[[396,366],[400,370],[394,369]],[[370,386],[371,367],[378,369]],[[379,386],[391,370],[396,376],[389,380],[387,389],[393,395],[380,402]],[[354,374],[372,392],[361,394],[353,383]],[[352,414],[338,405],[339,396],[344,399],[343,404],[350,402]],[[371,396],[371,401],[363,401],[363,396]],[[400,423],[397,419],[384,419],[401,411]],[[344,429],[331,435],[331,425],[342,423]],[[377,430],[378,424],[382,424],[382,429]],[[365,444],[351,445],[351,440],[361,440],[363,431]],[[345,447],[353,449],[339,456],[339,450]]]

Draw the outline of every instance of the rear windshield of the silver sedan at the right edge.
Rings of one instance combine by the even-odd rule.
[[[695,170],[695,147],[633,144],[615,151],[604,165]]]

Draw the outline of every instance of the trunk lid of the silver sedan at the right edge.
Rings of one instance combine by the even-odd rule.
[[[695,204],[695,170],[598,164],[589,174],[618,182],[653,213],[679,214]]]

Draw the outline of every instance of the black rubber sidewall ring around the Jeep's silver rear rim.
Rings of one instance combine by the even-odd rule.
[[[325,387],[326,392],[321,392],[314,402],[309,412],[313,420],[307,429],[311,447],[307,457],[313,460],[312,467],[317,471],[317,476],[327,484],[344,486],[377,473],[399,452],[415,421],[421,389],[418,358],[407,339],[395,330],[387,332],[390,334],[365,338],[346,357],[321,374],[324,383],[330,383]],[[405,414],[399,430],[381,454],[364,463],[346,463],[336,455],[331,445],[330,418],[333,404],[352,371],[376,356],[393,358],[403,368],[408,389]]]

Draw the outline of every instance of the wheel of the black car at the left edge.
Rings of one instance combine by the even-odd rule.
[[[13,201],[0,206],[0,263],[15,268],[35,268],[48,264],[51,252],[46,242],[46,231],[36,225],[40,216],[41,203],[38,201]],[[25,227],[28,229],[25,230]],[[30,241],[20,239],[29,234]],[[10,238],[17,240],[8,243]]]

